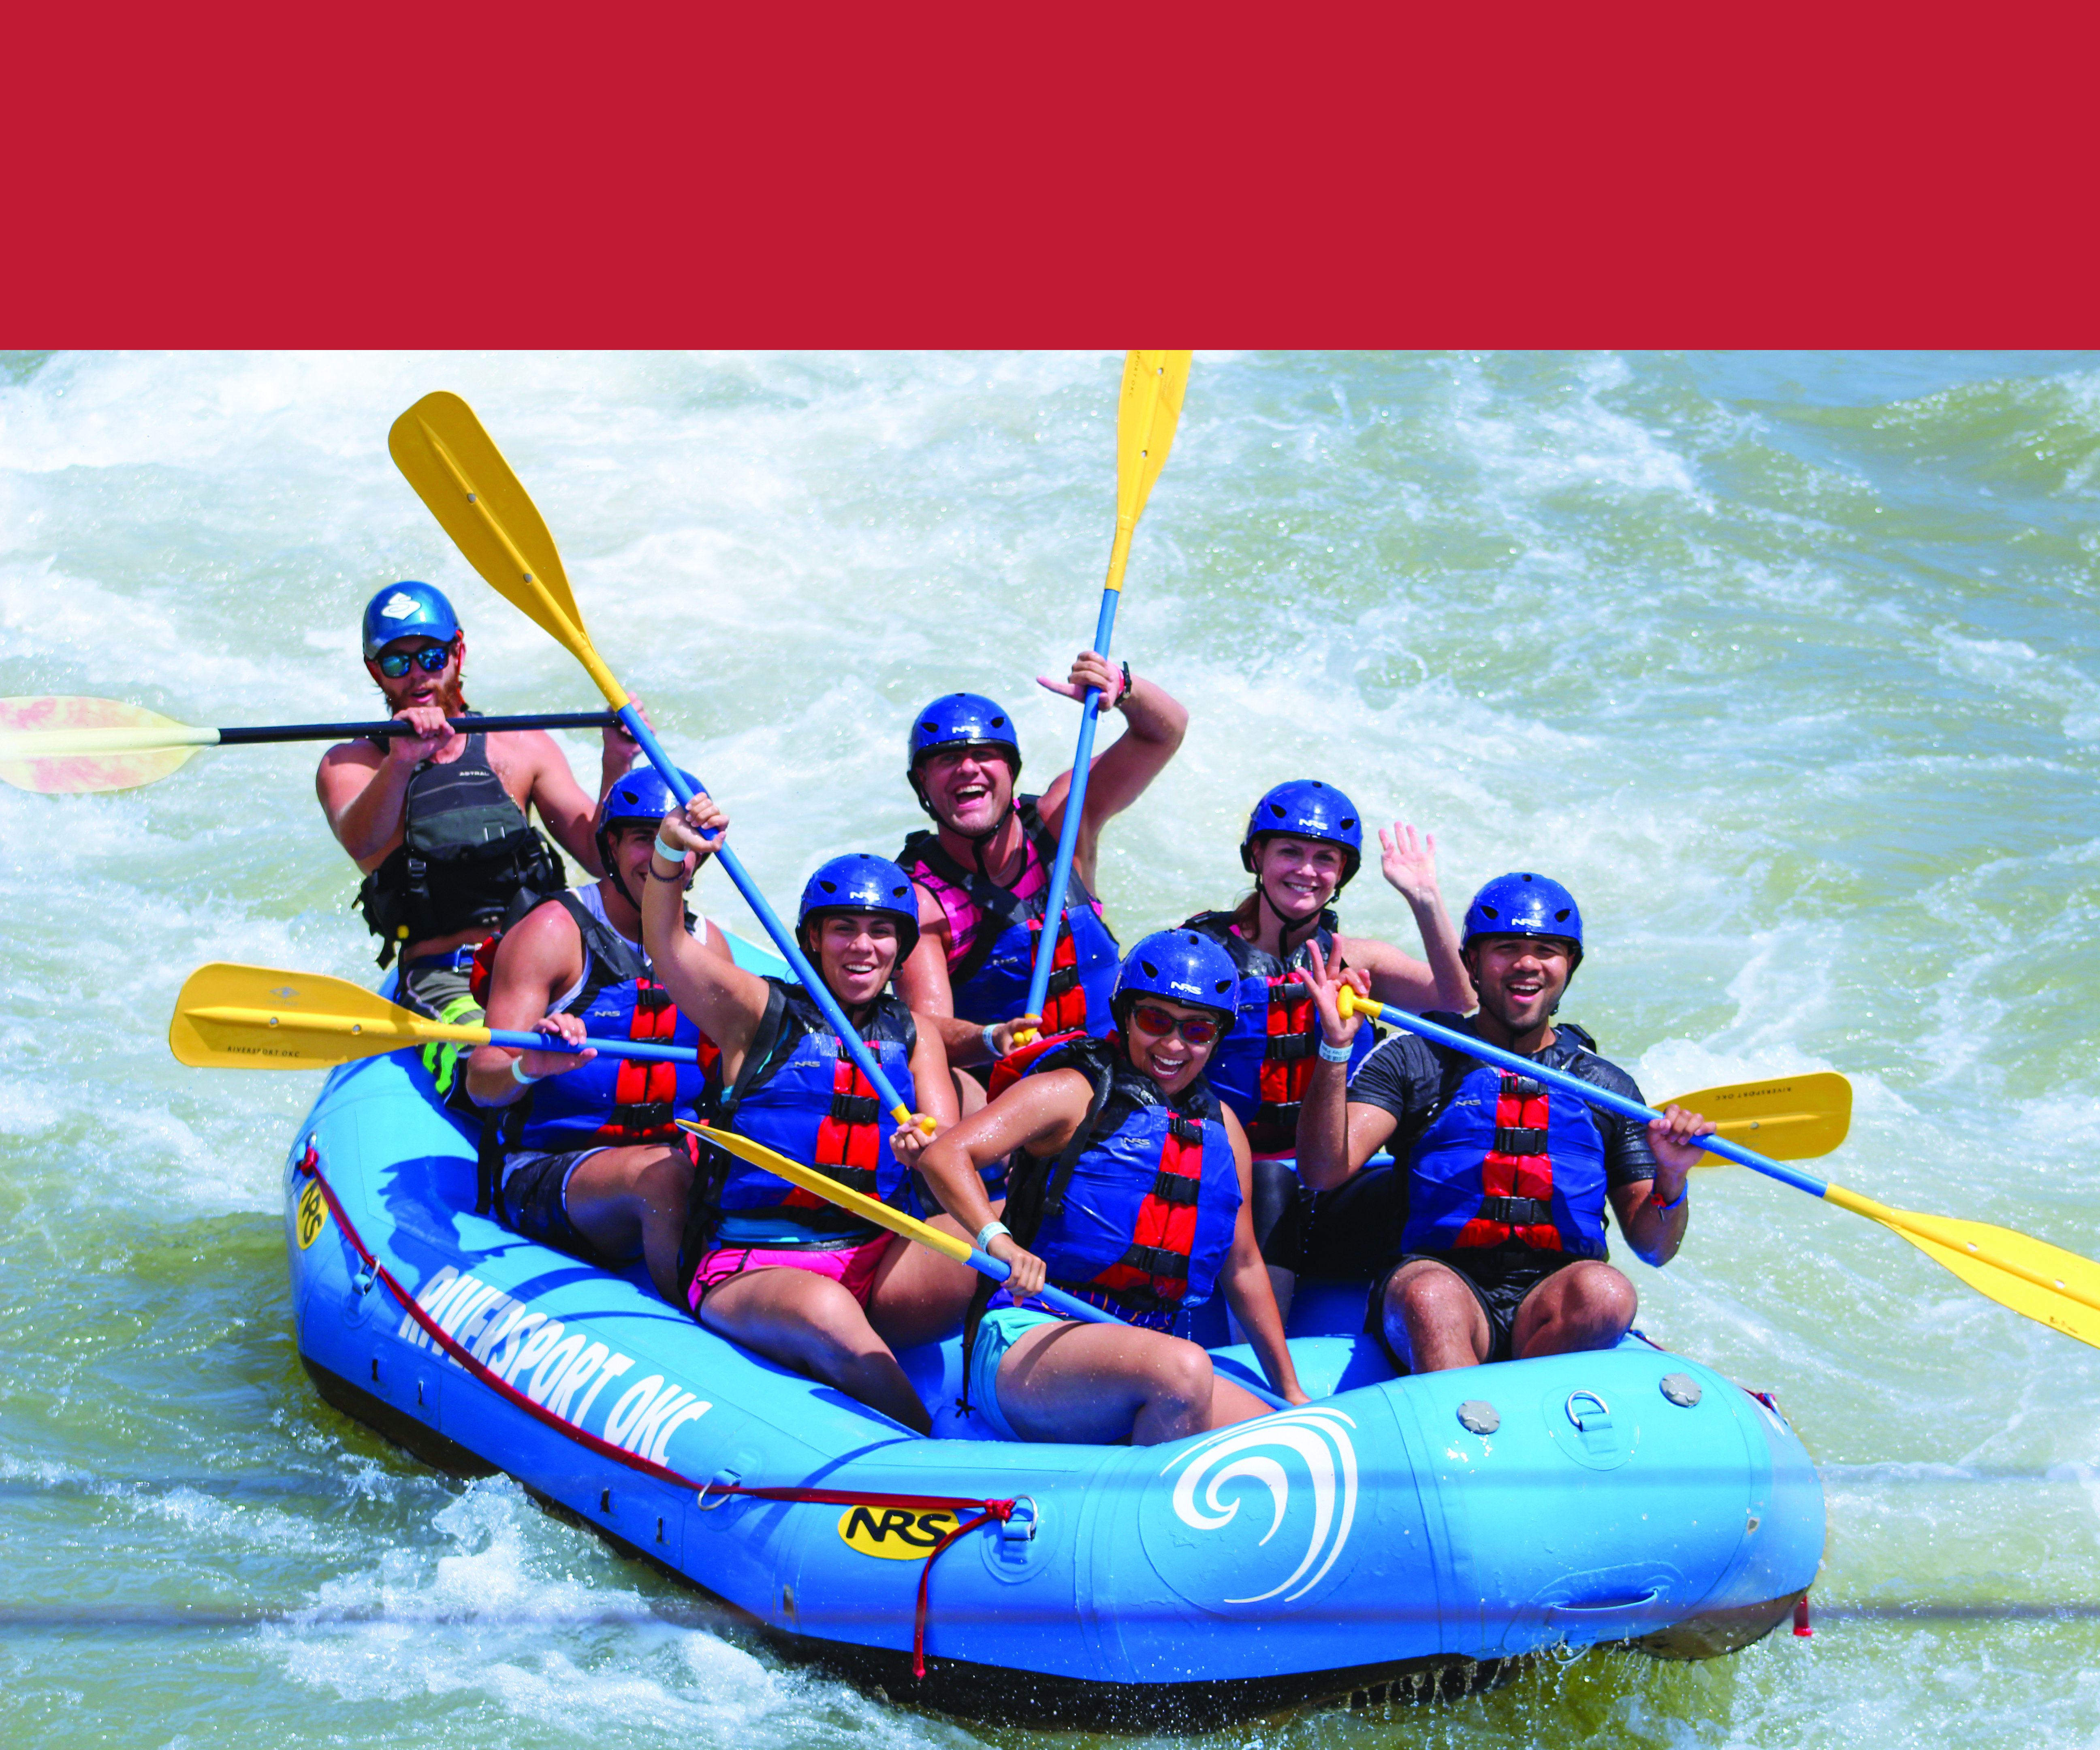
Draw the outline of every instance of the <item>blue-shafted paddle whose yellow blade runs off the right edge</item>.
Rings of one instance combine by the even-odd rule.
[[[1485,1040],[1472,1038],[1472,1034],[1453,1032],[1401,1008],[1359,1002],[1357,992],[1348,987],[1342,989],[1338,1006],[1342,1015],[1376,1015],[1388,1027],[1420,1034],[1451,1050],[1478,1057],[1483,1063],[1546,1082],[1550,1088],[1560,1088],[1604,1111],[1617,1111],[1634,1120],[1661,1118],[1659,1111],[1644,1107],[1640,1101],[1592,1086],[1579,1076],[1569,1076],[1564,1069],[1548,1069],[1544,1063],[1533,1063],[1514,1050],[1491,1046]],[[1796,1191],[1806,1191],[1810,1197],[1823,1197],[1827,1204],[1882,1223],[1882,1227],[1909,1239],[1932,1263],[1945,1265],[1959,1275],[1978,1294],[1997,1300],[2001,1307],[2010,1307],[2022,1317],[2052,1326],[2064,1336],[2075,1336],[2079,1342],[2100,1349],[2100,1265],[2092,1258],[2081,1258],[2077,1252],[2066,1252],[2060,1246],[2050,1246],[2010,1227],[1919,1214],[1917,1210],[1894,1210],[1888,1204],[1877,1204],[1873,1197],[1858,1195],[1858,1191],[1848,1191],[1844,1185],[1831,1185],[1810,1172],[1781,1166],[1777,1160],[1751,1153],[1741,1143],[1730,1143],[1722,1137],[1701,1137],[1699,1147],[1747,1166],[1751,1172],[1762,1172],[1766,1179],[1777,1179],[1781,1185],[1791,1185]]]

